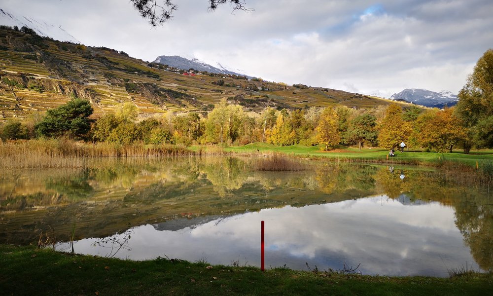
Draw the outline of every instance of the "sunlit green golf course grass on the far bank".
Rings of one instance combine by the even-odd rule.
[[[299,156],[317,156],[339,159],[341,161],[368,161],[368,162],[394,162],[402,164],[421,164],[437,166],[443,161],[462,162],[468,165],[476,166],[486,161],[493,160],[493,150],[471,151],[470,154],[464,154],[460,150],[454,150],[452,153],[423,152],[415,150],[405,150],[403,153],[395,151],[394,157],[387,160],[388,150],[380,148],[358,148],[339,147],[331,151],[321,151],[319,146],[307,147],[303,145],[292,145],[286,147],[275,146],[267,143],[252,143],[245,146],[227,147],[224,149],[228,152],[236,153],[255,153],[260,152],[280,152]]]

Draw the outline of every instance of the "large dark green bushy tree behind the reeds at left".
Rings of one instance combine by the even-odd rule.
[[[91,130],[89,118],[93,113],[91,103],[87,100],[72,99],[65,105],[46,111],[44,118],[35,125],[36,133],[44,137],[69,136],[83,139]]]

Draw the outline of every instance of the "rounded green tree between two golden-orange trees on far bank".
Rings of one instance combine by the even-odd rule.
[[[354,117],[348,127],[348,138],[351,141],[358,143],[359,149],[363,146],[364,142],[375,145],[377,142],[378,131],[377,117],[375,115],[365,112]]]

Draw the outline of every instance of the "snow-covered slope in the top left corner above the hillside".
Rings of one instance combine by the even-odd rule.
[[[61,26],[56,26],[40,19],[36,20],[29,16],[17,15],[3,8],[0,8],[0,25],[17,26],[18,28],[25,26],[33,29],[40,36],[51,37],[59,41],[80,43],[79,40],[70,35]]]

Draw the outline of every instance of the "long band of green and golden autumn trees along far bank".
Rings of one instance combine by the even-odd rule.
[[[246,112],[223,98],[210,112],[166,113],[139,118],[139,108],[122,103],[99,118],[88,100],[73,99],[23,122],[10,120],[0,127],[2,141],[68,138],[112,145],[235,145],[255,142],[279,147],[304,145],[321,150],[358,146],[426,152],[452,152],[461,147],[493,148],[493,86],[490,82],[493,49],[485,52],[459,94],[457,108],[423,110],[400,105],[350,109],[281,109],[266,107]],[[486,70],[485,70],[486,69]],[[351,158],[351,157],[347,157]],[[372,157],[370,157],[372,158]]]

